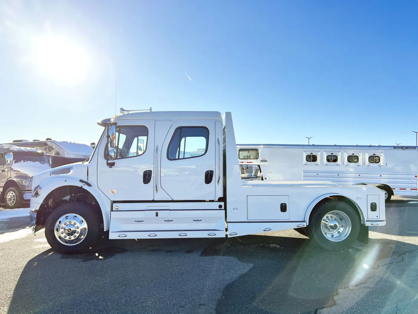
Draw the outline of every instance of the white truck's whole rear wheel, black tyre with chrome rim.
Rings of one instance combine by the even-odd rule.
[[[360,232],[357,213],[348,204],[332,200],[319,207],[308,225],[311,239],[327,250],[344,250]]]

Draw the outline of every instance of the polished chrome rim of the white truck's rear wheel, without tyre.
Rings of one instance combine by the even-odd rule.
[[[321,231],[332,242],[342,241],[351,232],[351,220],[342,211],[330,211],[322,218]]]

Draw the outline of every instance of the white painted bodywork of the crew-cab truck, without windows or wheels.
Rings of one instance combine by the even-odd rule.
[[[356,204],[364,225],[385,224],[384,193],[372,186],[341,186],[323,181],[242,181],[231,113],[222,116],[219,112],[141,112],[117,116],[110,122],[118,126],[147,126],[146,151],[116,159],[114,166],[107,167],[107,139],[103,134],[88,162],[52,170],[71,166],[68,174],[52,175],[46,171],[33,178],[33,186],[40,185],[42,195],[31,198],[31,208],[38,209],[57,187],[82,186],[97,199],[104,230],[110,230],[111,239],[232,237],[298,228],[307,226],[312,208],[328,196],[349,198]],[[168,160],[168,145],[179,126],[204,126],[209,130],[204,155]],[[143,183],[145,170],[153,170],[147,184]],[[214,175],[206,184],[204,174],[208,170]],[[377,217],[368,215],[369,197],[370,202],[377,202],[377,213],[372,213]],[[282,203],[286,204],[285,212],[280,211]]]

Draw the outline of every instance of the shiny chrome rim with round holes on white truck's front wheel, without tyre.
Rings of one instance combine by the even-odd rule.
[[[77,214],[61,216],[55,223],[55,237],[64,245],[76,245],[84,240],[87,234],[87,223]]]

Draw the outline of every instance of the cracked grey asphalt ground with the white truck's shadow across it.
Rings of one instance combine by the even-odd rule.
[[[0,221],[0,313],[417,313],[418,202],[387,204],[370,243],[321,250],[293,230],[102,240],[61,255],[28,217]]]

